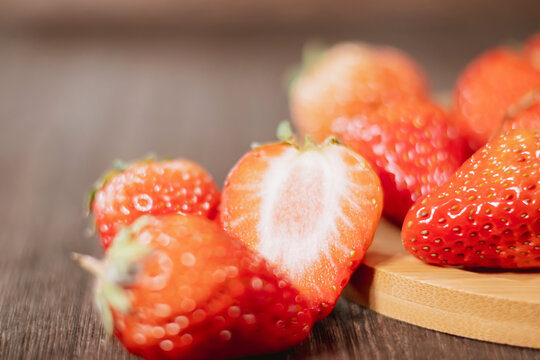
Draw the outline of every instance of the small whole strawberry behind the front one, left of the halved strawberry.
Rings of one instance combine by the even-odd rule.
[[[216,215],[219,189],[200,165],[189,160],[119,163],[96,186],[90,208],[107,248],[119,228],[143,214]]]

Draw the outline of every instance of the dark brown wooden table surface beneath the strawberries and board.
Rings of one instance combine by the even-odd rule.
[[[401,46],[435,90],[505,35],[424,30],[323,35]],[[86,231],[86,192],[113,159],[149,152],[194,159],[222,183],[250,142],[272,139],[288,117],[282,74],[307,37],[0,35],[1,359],[130,358],[104,340],[90,276],[69,257],[100,254]],[[342,299],[303,344],[267,358],[540,359],[540,351],[422,329]]]

